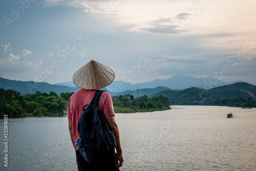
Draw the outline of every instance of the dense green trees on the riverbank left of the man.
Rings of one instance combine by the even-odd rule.
[[[72,93],[55,92],[21,95],[15,90],[0,89],[0,116],[9,118],[28,116],[62,116]]]

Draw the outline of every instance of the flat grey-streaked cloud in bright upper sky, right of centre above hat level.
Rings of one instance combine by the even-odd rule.
[[[189,32],[190,29],[184,29],[175,18],[159,18],[151,22],[146,22],[141,25],[133,26],[130,29],[125,29],[127,32],[146,32],[146,33],[165,33],[165,34],[178,34]]]

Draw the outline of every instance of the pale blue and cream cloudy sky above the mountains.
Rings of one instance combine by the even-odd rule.
[[[2,0],[0,76],[59,83],[90,60],[130,83],[256,84],[254,0]]]

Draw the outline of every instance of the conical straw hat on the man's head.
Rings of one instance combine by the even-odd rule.
[[[114,78],[111,68],[91,60],[75,72],[73,82],[79,88],[94,90],[109,86]]]

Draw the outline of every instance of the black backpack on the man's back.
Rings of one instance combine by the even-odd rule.
[[[89,163],[102,157],[113,157],[115,155],[115,136],[109,130],[108,123],[99,110],[99,99],[102,92],[102,90],[97,90],[91,103],[83,106],[83,113],[77,124],[77,130],[81,138],[79,149],[83,148],[82,150],[86,153],[86,160]],[[84,155],[82,154],[82,156]]]

